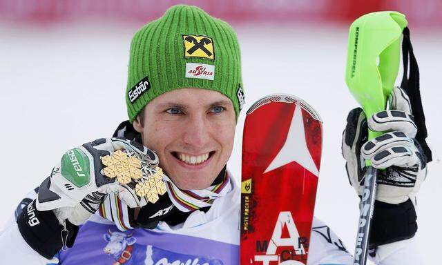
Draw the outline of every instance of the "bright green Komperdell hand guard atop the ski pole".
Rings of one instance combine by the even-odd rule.
[[[396,11],[365,14],[349,29],[345,82],[367,118],[385,110],[398,75],[405,15]],[[369,130],[373,139],[381,132]]]

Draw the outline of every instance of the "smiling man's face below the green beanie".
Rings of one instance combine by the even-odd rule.
[[[220,92],[182,88],[149,102],[143,124],[133,121],[173,183],[184,190],[204,189],[231,155],[236,116],[231,100]]]

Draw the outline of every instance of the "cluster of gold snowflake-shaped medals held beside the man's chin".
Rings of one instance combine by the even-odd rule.
[[[163,170],[152,163],[148,155],[137,155],[128,150],[116,150],[112,155],[100,157],[106,177],[117,178],[121,184],[135,184],[135,194],[155,204],[166,193]]]

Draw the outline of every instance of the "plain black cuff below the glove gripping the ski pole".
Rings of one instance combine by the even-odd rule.
[[[381,246],[414,237],[417,231],[416,210],[411,199],[401,204],[376,201],[369,245]]]

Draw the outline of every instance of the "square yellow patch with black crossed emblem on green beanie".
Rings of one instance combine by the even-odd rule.
[[[206,59],[215,59],[213,50],[213,39],[206,36],[182,35],[184,43],[184,57],[198,57]]]

